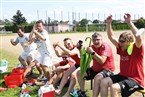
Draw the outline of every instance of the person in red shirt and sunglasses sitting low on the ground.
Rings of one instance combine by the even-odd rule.
[[[48,84],[53,84],[56,86],[58,82],[62,79],[62,76],[65,73],[65,71],[69,69],[70,67],[74,66],[75,63],[73,60],[71,60],[71,58],[68,55],[61,55],[58,52],[57,46],[55,45],[55,43],[53,44],[53,48],[54,48],[55,54],[58,57],[62,57],[62,61],[55,63],[53,65],[54,69],[52,71],[50,80],[48,82]]]

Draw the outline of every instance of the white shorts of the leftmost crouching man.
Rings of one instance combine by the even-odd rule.
[[[30,52],[23,52],[21,55],[20,55],[25,61],[27,61],[27,57],[30,56],[32,57],[32,61],[37,59],[37,57],[39,57],[39,53],[37,50],[32,50]]]

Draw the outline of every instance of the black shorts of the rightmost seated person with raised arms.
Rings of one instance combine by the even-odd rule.
[[[122,97],[129,97],[135,91],[143,89],[143,87],[141,87],[132,78],[124,77],[121,75],[114,75],[110,78],[112,79],[113,83],[118,83],[120,85]]]

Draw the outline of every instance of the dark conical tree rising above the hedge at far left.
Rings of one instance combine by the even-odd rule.
[[[21,25],[27,23],[26,18],[23,17],[23,14],[20,12],[20,10],[17,10],[16,15],[14,15],[12,18],[12,21],[14,25]]]

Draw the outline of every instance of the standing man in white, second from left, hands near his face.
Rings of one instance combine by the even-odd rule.
[[[37,62],[40,63],[47,80],[50,80],[50,71],[52,69],[52,49],[50,45],[48,32],[44,29],[44,24],[41,20],[37,21],[33,30],[30,33],[30,39],[35,36],[35,43],[37,44],[37,50],[40,57],[37,58]]]

